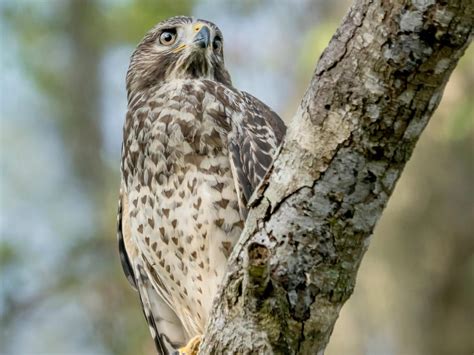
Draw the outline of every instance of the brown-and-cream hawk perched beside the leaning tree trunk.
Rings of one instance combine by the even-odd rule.
[[[232,86],[222,33],[173,17],[127,72],[118,211],[124,272],[158,352],[195,353],[247,215],[285,134],[278,115]]]

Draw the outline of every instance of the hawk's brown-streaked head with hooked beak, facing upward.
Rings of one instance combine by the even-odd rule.
[[[151,29],[132,55],[127,91],[174,79],[210,79],[231,85],[224,66],[223,37],[213,23],[172,17]]]

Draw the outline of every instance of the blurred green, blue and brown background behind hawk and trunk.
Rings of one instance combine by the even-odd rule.
[[[129,56],[211,20],[234,85],[289,121],[349,1],[0,0],[0,353],[151,354],[115,224]],[[474,51],[378,224],[327,355],[474,351]]]

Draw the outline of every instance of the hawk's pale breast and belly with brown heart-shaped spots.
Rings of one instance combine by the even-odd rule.
[[[129,142],[136,166],[128,179],[132,238],[189,335],[203,332],[243,228],[229,124],[204,89],[190,80],[160,88],[136,111]]]

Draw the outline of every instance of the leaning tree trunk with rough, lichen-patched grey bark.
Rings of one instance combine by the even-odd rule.
[[[472,0],[358,0],[229,261],[202,354],[322,354],[370,235],[472,38]]]

